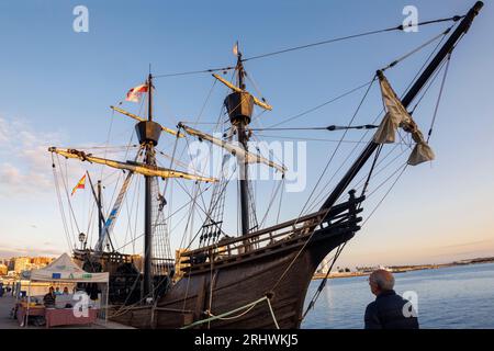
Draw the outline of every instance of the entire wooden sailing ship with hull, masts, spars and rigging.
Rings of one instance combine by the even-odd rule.
[[[377,71],[372,82],[379,82],[381,90],[384,105],[381,122],[360,126],[350,122],[346,126],[327,127],[328,131],[375,128],[375,132],[322,205],[291,220],[262,226],[256,216],[249,167],[260,163],[281,174],[287,172],[287,167],[249,149],[248,141],[256,132],[250,127],[255,106],[261,111],[271,110],[271,106],[247,90],[248,75],[244,67],[247,59],[243,58],[238,45],[235,47],[236,65],[225,68],[234,71],[233,81],[213,75],[216,81],[231,90],[224,100],[227,126],[223,137],[203,133],[186,123],[179,123],[175,131],[156,122],[153,111],[155,76],[149,73],[139,87],[147,97],[146,118],[112,106],[115,112],[137,120],[135,128],[139,144],[133,160],[115,161],[79,149],[50,147],[54,167],[55,159],[60,156],[123,170],[125,174],[108,216],[102,205],[101,182],[94,186],[89,177],[98,204],[98,242],[91,249],[81,247],[74,251],[74,258],[85,264],[85,270],[111,273],[110,298],[114,308],[110,318],[137,328],[299,328],[324,287],[324,284],[319,286],[304,313],[307,287],[317,267],[329,253],[334,253],[336,260],[345,245],[361,228],[362,204],[383,147],[394,143],[398,132],[405,133],[411,140],[408,146],[413,148],[405,167],[434,159],[428,138],[424,137],[408,109],[414,100],[420,98],[420,92],[427,90],[438,71],[444,67],[447,70],[453,49],[469,31],[482,5],[482,2],[476,2],[465,15],[423,23],[453,22],[441,33],[442,45],[438,45],[428,57],[402,99],[394,92],[384,71],[416,50]],[[403,26],[393,30],[403,30]],[[176,143],[188,138],[210,143],[224,150],[224,160],[235,159],[239,174],[238,235],[227,235],[223,226],[224,190],[228,182],[225,170],[222,169],[220,176],[213,178],[158,166],[156,147],[162,132],[172,135]],[[170,165],[173,165],[175,152],[171,158]],[[357,193],[349,185],[366,165],[364,186]],[[137,268],[134,256],[120,252],[111,240],[115,219],[134,176],[144,176],[145,179],[141,268]],[[183,179],[197,186],[206,183],[212,189],[210,208],[205,211],[205,220],[195,236],[198,247],[191,249],[190,244],[177,250],[176,257],[171,253],[170,229],[164,211],[167,207],[166,190],[160,192],[158,183],[161,180],[168,186],[171,179]]]

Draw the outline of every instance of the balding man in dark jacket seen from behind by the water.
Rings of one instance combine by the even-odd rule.
[[[375,301],[366,308],[366,329],[418,329],[417,314],[407,299],[397,295],[394,276],[386,270],[377,270],[369,276]]]

